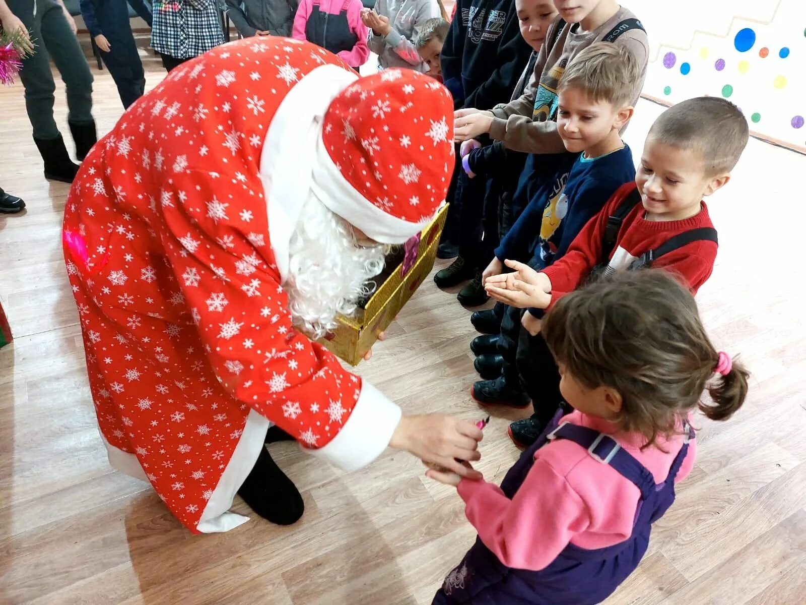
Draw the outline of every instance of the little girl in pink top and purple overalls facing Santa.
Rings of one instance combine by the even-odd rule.
[[[434,605],[604,601],[694,465],[689,416],[728,419],[747,394],[748,373],[713,347],[692,294],[664,269],[568,294],[542,333],[573,411],[558,410],[501,487],[426,472],[457,486],[479,533]]]

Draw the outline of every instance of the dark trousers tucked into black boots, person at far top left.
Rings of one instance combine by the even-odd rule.
[[[67,92],[68,121],[92,122],[93,76],[61,6],[54,0],[36,0],[34,16],[32,0],[6,0],[6,4],[31,31],[31,40],[37,43],[36,52],[23,60],[23,69],[19,73],[25,87],[25,107],[34,138],[50,140],[59,136],[53,119],[56,84],[50,67],[51,57]]]

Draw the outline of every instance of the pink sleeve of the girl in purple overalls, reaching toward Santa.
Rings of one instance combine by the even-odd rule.
[[[459,495],[484,545],[519,570],[544,569],[590,523],[580,496],[539,459],[511,500],[492,483],[467,479],[459,483]]]

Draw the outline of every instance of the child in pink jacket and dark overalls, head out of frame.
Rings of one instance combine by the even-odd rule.
[[[358,71],[369,58],[362,8],[361,0],[302,0],[291,35],[333,52]]]

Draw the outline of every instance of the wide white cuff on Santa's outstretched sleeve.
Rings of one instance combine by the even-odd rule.
[[[360,469],[380,456],[401,421],[401,408],[369,382],[342,430],[319,449],[305,449],[343,470]]]

